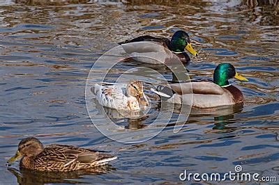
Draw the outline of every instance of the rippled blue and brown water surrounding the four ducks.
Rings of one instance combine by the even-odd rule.
[[[3,2],[1,183],[179,182],[184,169],[228,172],[236,165],[244,172],[278,176],[278,7],[248,5],[240,0]],[[249,79],[248,83],[232,80],[243,91],[243,108],[193,109],[179,133],[174,134],[171,122],[155,138],[134,145],[100,134],[91,123],[84,99],[86,77],[94,61],[119,41],[147,33],[170,37],[177,29],[190,33],[199,50],[199,57],[187,66],[190,76],[212,77],[218,63],[229,62]],[[135,65],[116,67],[110,78]],[[158,70],[171,78],[164,67]],[[98,75],[93,80],[98,81]],[[155,104],[149,118],[140,122],[116,118],[116,122],[142,128],[157,114]],[[27,136],[36,136],[44,144],[97,147],[119,159],[98,175],[80,172],[60,177],[7,170],[6,160]]]

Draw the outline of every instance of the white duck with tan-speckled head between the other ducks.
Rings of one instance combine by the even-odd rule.
[[[142,81],[131,80],[128,84],[94,84],[91,92],[99,104],[118,110],[140,111],[149,105],[144,95]]]

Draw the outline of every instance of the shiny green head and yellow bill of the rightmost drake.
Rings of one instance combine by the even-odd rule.
[[[213,81],[219,86],[229,85],[228,80],[232,78],[239,79],[240,81],[248,81],[248,79],[242,77],[239,73],[237,73],[234,65],[230,63],[221,63],[215,68]]]

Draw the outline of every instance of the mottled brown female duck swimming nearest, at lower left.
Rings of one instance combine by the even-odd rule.
[[[116,156],[105,152],[97,152],[71,145],[47,145],[43,147],[37,138],[24,138],[18,145],[15,156],[7,164],[20,159],[20,168],[39,171],[68,172],[86,170],[103,166],[117,159]]]

